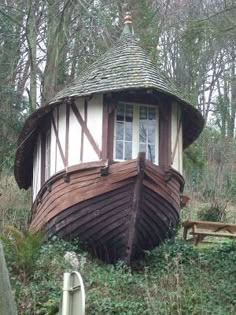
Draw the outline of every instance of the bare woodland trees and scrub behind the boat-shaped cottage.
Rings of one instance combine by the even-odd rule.
[[[206,121],[185,151],[184,219],[236,223],[235,0],[1,0],[1,230],[27,226],[30,192],[13,178],[25,119],[115,43],[124,4],[143,48]]]

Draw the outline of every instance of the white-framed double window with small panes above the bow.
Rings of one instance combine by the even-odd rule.
[[[145,152],[146,158],[158,161],[158,109],[148,105],[119,104],[115,120],[115,160],[136,158]]]

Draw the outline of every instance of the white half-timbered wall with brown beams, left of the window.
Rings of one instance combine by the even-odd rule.
[[[61,104],[51,115],[50,176],[80,163],[98,161],[102,150],[103,97]],[[41,188],[41,136],[33,162],[33,199]],[[42,170],[43,171],[43,170]]]

